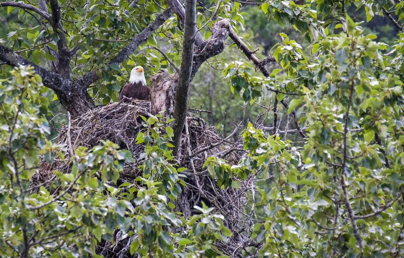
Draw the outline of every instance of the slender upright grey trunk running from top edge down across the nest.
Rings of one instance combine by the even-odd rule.
[[[187,115],[189,82],[191,81],[192,62],[194,60],[194,42],[196,30],[196,0],[185,0],[184,39],[182,44],[181,68],[175,92],[173,155],[177,156],[181,147],[182,129]]]

